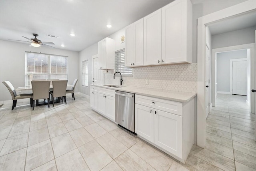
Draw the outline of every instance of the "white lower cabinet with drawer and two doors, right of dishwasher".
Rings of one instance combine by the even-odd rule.
[[[194,143],[194,99],[186,103],[135,95],[135,132],[185,163]]]

